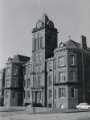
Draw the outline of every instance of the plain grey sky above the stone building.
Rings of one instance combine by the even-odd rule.
[[[90,0],[0,0],[0,68],[8,57],[32,55],[32,28],[46,13],[58,29],[58,41],[69,36],[90,46]]]

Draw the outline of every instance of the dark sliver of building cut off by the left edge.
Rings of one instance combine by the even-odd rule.
[[[0,106],[4,104],[5,69],[0,71]]]

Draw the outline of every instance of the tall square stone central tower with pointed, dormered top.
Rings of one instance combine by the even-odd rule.
[[[32,30],[33,106],[47,106],[46,59],[53,57],[57,47],[57,29],[44,14]]]

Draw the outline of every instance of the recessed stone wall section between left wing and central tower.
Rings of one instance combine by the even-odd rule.
[[[24,105],[29,105],[32,103],[32,77],[32,61],[30,59],[24,64]]]

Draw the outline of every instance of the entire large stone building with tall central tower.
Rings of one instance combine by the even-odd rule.
[[[90,104],[90,48],[86,37],[82,36],[81,44],[69,39],[58,45],[57,33],[44,14],[32,30],[32,57],[8,59],[5,106],[72,109],[80,102]]]

